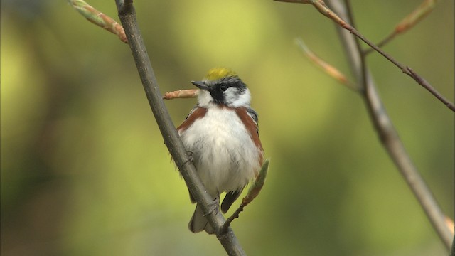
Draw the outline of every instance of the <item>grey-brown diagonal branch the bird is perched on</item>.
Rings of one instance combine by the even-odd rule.
[[[217,214],[218,211],[211,210],[210,203],[213,203],[208,193],[205,192],[204,185],[200,181],[196,173],[196,169],[191,161],[188,161],[188,154],[186,152],[181,139],[178,137],[176,128],[173,126],[171,117],[164,105],[164,101],[159,91],[158,82],[154,75],[154,70],[151,67],[149,56],[147,55],[144,41],[142,40],[141,32],[137,25],[136,12],[132,1],[116,0],[117,9],[119,10],[120,21],[127,34],[129,46],[132,50],[134,61],[139,71],[142,85],[149,100],[152,112],[154,113],[156,123],[164,138],[164,143],[168,147],[176,166],[179,166],[181,175],[186,181],[191,195],[195,198],[196,202],[201,206],[203,212],[206,213],[208,223],[212,225],[215,230],[216,236],[220,243],[225,248],[228,255],[245,255],[242,247],[240,246],[237,238],[235,237],[232,228],[228,228],[225,233],[220,230],[225,223],[223,215]]]

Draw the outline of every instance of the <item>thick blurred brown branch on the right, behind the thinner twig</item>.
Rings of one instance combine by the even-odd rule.
[[[348,6],[346,7],[337,0],[328,0],[328,3],[330,4],[331,9],[343,16],[344,20],[352,22],[352,19],[348,17],[348,14],[350,14],[349,4],[346,4]],[[346,10],[347,8],[348,10]],[[351,70],[353,70],[358,83],[365,87],[363,93],[365,105],[368,108],[372,122],[378,132],[380,142],[382,142],[387,153],[395,162],[395,165],[400,170],[403,178],[405,178],[408,186],[410,186],[417,201],[427,214],[427,218],[429,218],[430,223],[432,223],[433,228],[439,235],[439,238],[441,238],[444,245],[449,249],[452,235],[445,224],[444,213],[442,213],[436,199],[433,197],[432,191],[430,191],[422,176],[420,176],[412,163],[409,154],[407,154],[405,147],[400,141],[400,137],[398,136],[395,127],[393,127],[390,117],[388,117],[387,112],[382,105],[373,79],[366,68],[365,57],[362,54],[360,43],[353,42],[355,41],[354,38],[343,31],[339,26],[336,28],[341,41],[343,41],[346,53],[348,54]]]

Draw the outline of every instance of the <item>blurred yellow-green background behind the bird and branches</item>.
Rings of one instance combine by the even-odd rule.
[[[377,42],[419,2],[352,5]],[[118,21],[114,1],[89,4]],[[262,193],[232,223],[248,255],[446,255],[363,100],[294,44],[303,38],[349,75],[331,21],[275,1],[135,6],[161,92],[193,88],[218,66],[250,86],[272,161]],[[454,101],[454,1],[385,50]],[[368,63],[453,216],[454,113],[378,54]],[[195,102],[166,102],[176,125]],[[1,255],[224,255],[214,236],[188,231],[194,205],[170,160],[127,45],[67,1],[1,1]]]

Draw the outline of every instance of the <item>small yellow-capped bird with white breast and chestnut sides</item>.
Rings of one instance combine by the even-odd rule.
[[[213,68],[202,81],[191,81],[200,90],[198,103],[177,127],[183,145],[218,209],[226,213],[264,162],[257,113],[250,107],[250,90],[228,68]],[[191,202],[195,203],[190,193]],[[188,223],[193,233],[214,229],[196,205]]]

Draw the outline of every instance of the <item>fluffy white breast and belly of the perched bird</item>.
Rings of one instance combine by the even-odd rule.
[[[223,191],[242,188],[260,168],[257,159],[261,152],[233,110],[209,107],[205,117],[180,135],[193,154],[205,188],[214,198]]]

